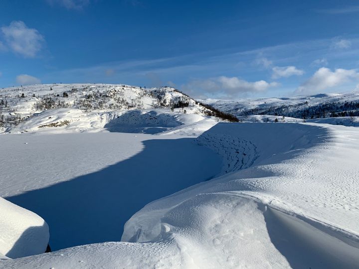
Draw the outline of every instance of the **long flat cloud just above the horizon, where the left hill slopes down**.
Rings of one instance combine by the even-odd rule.
[[[259,80],[249,82],[237,77],[216,77],[204,80],[192,80],[181,88],[191,94],[204,97],[237,98],[248,93],[265,92],[271,87],[277,87],[277,82]]]

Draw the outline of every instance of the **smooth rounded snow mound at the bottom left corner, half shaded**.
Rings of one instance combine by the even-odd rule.
[[[44,253],[49,241],[48,226],[42,218],[1,197],[0,231],[0,256],[3,258]]]

